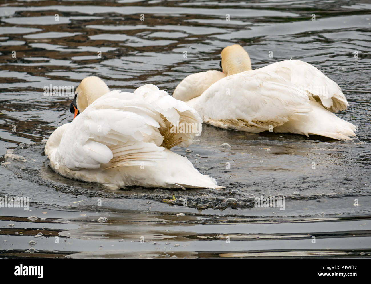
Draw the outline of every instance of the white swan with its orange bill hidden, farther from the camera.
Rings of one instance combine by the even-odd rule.
[[[316,67],[285,60],[251,70],[240,45],[221,52],[217,70],[195,73],[173,97],[197,110],[211,125],[246,132],[273,131],[349,140],[355,126],[332,112],[349,105],[340,87]]]

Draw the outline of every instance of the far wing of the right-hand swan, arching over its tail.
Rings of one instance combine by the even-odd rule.
[[[347,109],[349,103],[341,88],[313,65],[301,60],[284,60],[258,70],[275,72],[286,78],[310,99],[331,112]]]

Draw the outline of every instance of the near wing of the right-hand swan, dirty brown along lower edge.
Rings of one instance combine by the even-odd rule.
[[[211,85],[195,109],[204,122],[247,132],[272,131],[294,115],[311,111],[307,96],[273,72],[245,71]]]

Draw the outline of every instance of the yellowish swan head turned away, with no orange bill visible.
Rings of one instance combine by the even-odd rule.
[[[239,44],[224,48],[220,58],[220,67],[227,76],[251,70],[250,57]]]

